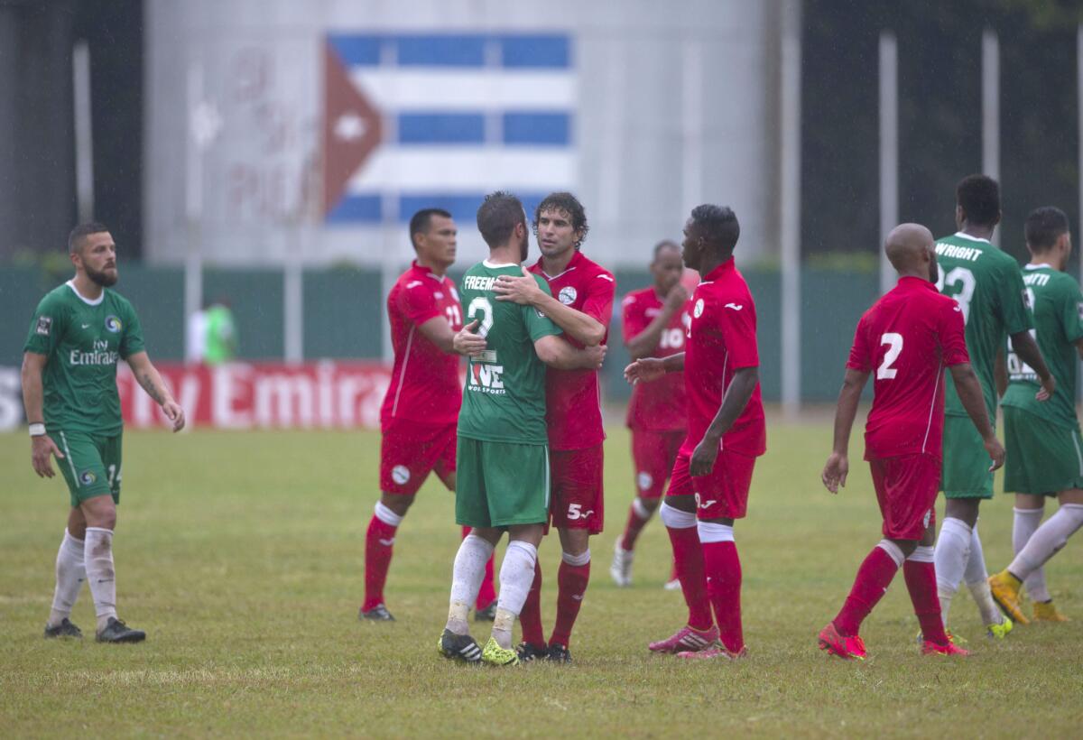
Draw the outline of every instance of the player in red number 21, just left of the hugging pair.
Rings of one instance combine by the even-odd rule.
[[[419,210],[409,222],[417,259],[388,295],[394,367],[380,408],[380,501],[365,535],[365,600],[361,619],[393,621],[383,603],[395,531],[430,471],[455,491],[455,425],[462,403],[459,356],[452,339],[462,328],[455,283],[452,215]],[[464,532],[466,536],[467,532]],[[493,562],[478,596],[478,616],[496,602]]]

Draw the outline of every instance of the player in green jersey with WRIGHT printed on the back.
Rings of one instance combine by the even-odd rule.
[[[996,418],[994,365],[1004,345],[1012,346],[1042,379],[1042,394],[1053,392],[1054,379],[1030,336],[1032,326],[1019,265],[989,241],[1001,221],[1001,194],[996,181],[983,174],[964,178],[955,190],[955,223],[958,231],[937,241],[940,280],[937,288],[951,296],[966,322],[966,349],[981,382],[989,418]],[[987,634],[1004,637],[1012,628],[989,593],[986,559],[978,537],[978,506],[992,498],[993,473],[981,438],[960,401],[955,386],[945,379],[944,438],[941,490],[947,505],[935,562],[940,609],[948,624],[948,610],[958,583],[966,581]]]

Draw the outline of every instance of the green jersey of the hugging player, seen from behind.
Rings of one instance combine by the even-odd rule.
[[[534,351],[542,337],[560,334],[548,316],[530,306],[496,300],[499,275],[521,276],[518,264],[479,262],[462,275],[459,296],[467,323],[478,320],[486,350],[467,363],[459,434],[485,442],[546,444],[545,365]],[[538,287],[546,282],[534,275]]]

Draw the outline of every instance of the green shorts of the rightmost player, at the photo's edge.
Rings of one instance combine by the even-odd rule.
[[[1004,492],[1055,496],[1083,489],[1080,430],[1021,408],[1004,407]]]

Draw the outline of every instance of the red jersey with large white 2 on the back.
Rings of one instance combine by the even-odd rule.
[[[875,372],[865,459],[928,453],[940,458],[943,368],[969,362],[963,313],[921,277],[902,277],[858,322],[847,367]]]

